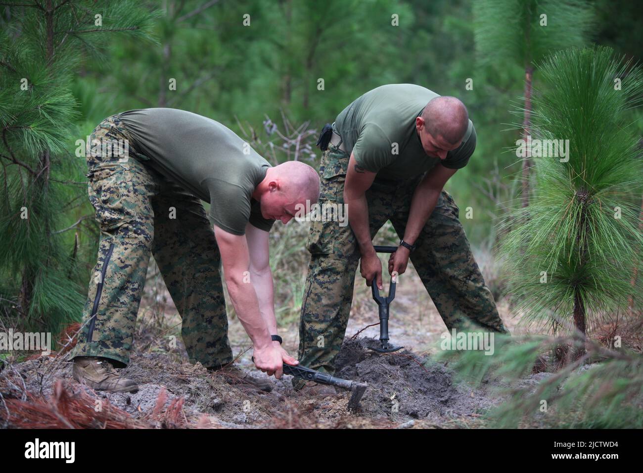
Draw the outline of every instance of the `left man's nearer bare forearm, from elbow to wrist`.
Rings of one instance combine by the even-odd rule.
[[[272,342],[270,328],[259,311],[255,288],[253,288],[252,284],[244,281],[228,279],[226,279],[226,285],[228,286],[232,305],[239,316],[242,326],[252,340],[253,346],[263,347],[269,345]]]

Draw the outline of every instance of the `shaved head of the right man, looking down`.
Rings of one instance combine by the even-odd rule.
[[[442,136],[449,144],[458,144],[469,126],[469,113],[458,98],[435,97],[422,111],[426,131],[437,138]]]

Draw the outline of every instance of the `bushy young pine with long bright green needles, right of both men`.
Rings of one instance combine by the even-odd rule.
[[[532,133],[568,140],[568,156],[534,153],[534,196],[528,209],[507,214],[501,252],[528,320],[572,326],[580,310],[590,326],[643,292],[640,279],[630,285],[632,263],[643,257],[643,166],[629,117],[643,77],[605,47],[559,51],[540,70]]]

